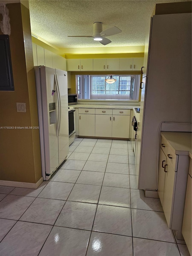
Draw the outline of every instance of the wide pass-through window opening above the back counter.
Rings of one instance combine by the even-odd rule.
[[[113,75],[116,82],[111,84],[105,82],[108,77],[109,75],[77,75],[78,98],[138,100],[140,75]]]

